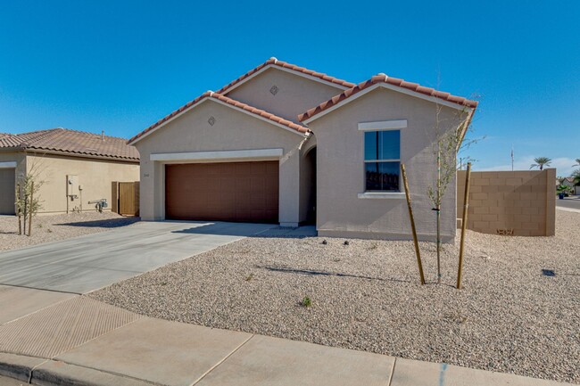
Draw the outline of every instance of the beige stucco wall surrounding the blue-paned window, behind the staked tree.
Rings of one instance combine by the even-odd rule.
[[[364,132],[360,122],[407,119],[401,129],[401,160],[409,177],[418,235],[435,239],[435,212],[427,186],[435,182],[432,143],[436,104],[407,94],[378,88],[343,107],[315,119],[309,127],[318,142],[317,227],[320,235],[410,239],[404,194],[390,199],[362,199],[365,191]],[[460,122],[458,111],[443,107],[441,127]],[[402,187],[402,180],[401,180]],[[443,241],[451,242],[456,227],[455,181],[443,197]]]

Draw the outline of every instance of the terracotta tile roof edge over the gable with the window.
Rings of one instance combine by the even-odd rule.
[[[320,103],[318,106],[313,107],[312,109],[300,114],[298,116],[298,120],[300,120],[302,122],[305,119],[310,119],[311,117],[315,116],[316,114],[319,114],[319,112],[325,111],[325,110],[331,108],[332,106],[335,106],[336,104],[343,102],[345,99],[348,99],[352,95],[359,93],[360,91],[364,90],[365,88],[369,88],[370,86],[374,86],[374,85],[377,85],[380,83],[385,83],[388,85],[393,85],[393,86],[405,88],[405,89],[415,91],[415,92],[420,93],[420,94],[434,96],[435,98],[442,99],[443,101],[457,103],[457,104],[460,104],[462,106],[466,106],[466,107],[469,107],[472,109],[475,109],[477,107],[476,101],[470,101],[470,100],[463,98],[461,96],[455,96],[455,95],[452,95],[449,93],[445,93],[443,91],[437,91],[437,90],[435,90],[435,88],[420,86],[417,83],[407,82],[403,79],[387,77],[385,74],[378,74],[378,75],[375,75],[374,77],[370,78],[369,80],[367,80],[365,82],[359,83],[358,85],[353,86],[353,87],[349,88],[348,90],[345,90],[344,93],[342,93],[342,94],[338,94],[336,96],[333,96],[327,102]]]

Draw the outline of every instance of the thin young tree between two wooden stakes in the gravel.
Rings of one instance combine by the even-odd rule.
[[[433,153],[436,159],[437,176],[433,185],[427,187],[427,196],[434,206],[436,215],[437,282],[441,283],[441,204],[448,185],[457,173],[457,153],[460,152],[466,133],[471,130],[472,110],[459,111],[452,119],[443,121],[443,106],[436,105],[435,141]],[[469,146],[481,139],[468,141]]]

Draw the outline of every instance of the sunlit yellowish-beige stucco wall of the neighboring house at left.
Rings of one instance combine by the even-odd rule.
[[[115,160],[99,160],[90,158],[70,157],[53,154],[28,153],[26,160],[27,172],[35,168],[44,184],[40,188],[42,209],[39,213],[62,213],[69,209],[79,208],[84,211],[95,210],[95,205],[88,201],[107,199],[111,210],[112,181],[138,181],[139,164]],[[82,200],[73,201],[66,197],[66,177],[76,175],[82,187]]]

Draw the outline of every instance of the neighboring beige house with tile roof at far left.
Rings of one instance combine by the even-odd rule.
[[[139,180],[139,153],[123,138],[65,128],[0,134],[0,214],[14,214],[15,187],[27,173],[44,181],[39,213],[95,210],[112,181]]]

